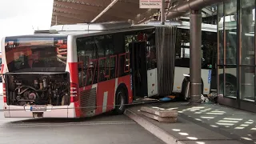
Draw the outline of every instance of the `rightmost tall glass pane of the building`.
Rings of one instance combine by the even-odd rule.
[[[254,101],[254,22],[255,22],[255,1],[240,0],[241,20],[241,44],[240,44],[240,65],[241,82],[240,98],[246,101]]]

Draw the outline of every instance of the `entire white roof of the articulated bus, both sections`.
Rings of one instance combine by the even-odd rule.
[[[50,30],[35,30],[34,34],[20,35],[14,37],[54,37],[54,36],[90,36],[98,34],[111,34],[116,32],[126,32],[131,30],[153,29],[157,26],[177,26],[181,29],[190,29],[190,22],[169,21],[165,25],[154,21],[148,24],[131,25],[129,22],[95,22],[95,23],[78,23],[70,25],[51,26]],[[216,25],[202,23],[202,31],[217,32]],[[13,38],[14,38],[13,37]]]

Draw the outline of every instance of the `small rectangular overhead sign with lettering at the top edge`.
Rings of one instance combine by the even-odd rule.
[[[140,9],[161,9],[162,0],[139,0]]]

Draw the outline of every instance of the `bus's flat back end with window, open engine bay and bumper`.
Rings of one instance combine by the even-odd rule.
[[[70,104],[67,37],[6,37],[3,42],[6,117],[55,117],[58,108]],[[67,110],[59,117],[67,117]]]

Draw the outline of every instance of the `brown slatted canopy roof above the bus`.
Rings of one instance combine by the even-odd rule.
[[[187,0],[166,0],[166,10],[181,2]],[[51,25],[106,21],[138,24],[159,20],[159,11],[140,9],[139,0],[54,0]],[[216,12],[212,6],[202,9],[202,17],[214,14]]]

